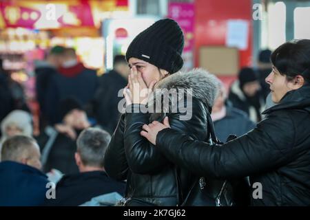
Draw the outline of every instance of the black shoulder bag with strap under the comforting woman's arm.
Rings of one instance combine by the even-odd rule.
[[[208,131],[210,131],[211,135],[209,143],[223,144],[215,135],[214,124],[209,113],[207,114],[207,123]],[[231,139],[231,136],[229,136],[229,138]],[[177,183],[180,185],[178,175]],[[181,192],[179,186],[178,192]],[[229,181],[200,177],[194,181],[187,196],[182,202],[180,202],[180,206],[233,206],[233,194],[233,186]]]

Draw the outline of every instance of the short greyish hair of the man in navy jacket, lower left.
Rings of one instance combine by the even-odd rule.
[[[37,142],[25,135],[14,135],[3,142],[1,150],[1,161],[10,160],[21,162],[22,158],[32,158],[31,149],[39,148]]]

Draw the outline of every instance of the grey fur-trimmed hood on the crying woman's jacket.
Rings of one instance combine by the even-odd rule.
[[[149,110],[153,109],[150,120],[162,120],[165,113],[178,112],[178,107],[187,106],[190,103],[187,101],[192,98],[205,104],[210,111],[218,94],[218,88],[219,80],[204,69],[177,72],[167,76],[156,85],[154,93],[149,97],[148,107]],[[169,103],[165,101],[167,98]],[[186,111],[192,115],[192,108]]]

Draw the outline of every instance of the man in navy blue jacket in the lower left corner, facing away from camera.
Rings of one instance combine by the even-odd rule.
[[[41,206],[48,177],[41,173],[39,146],[16,135],[3,143],[0,162],[0,206]]]

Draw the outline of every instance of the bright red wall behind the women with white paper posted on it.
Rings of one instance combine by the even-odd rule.
[[[252,64],[252,1],[195,0],[196,27],[194,36],[196,67],[198,67],[200,46],[225,45],[228,19],[245,19],[249,21],[248,48],[245,51],[239,51],[240,67]]]

